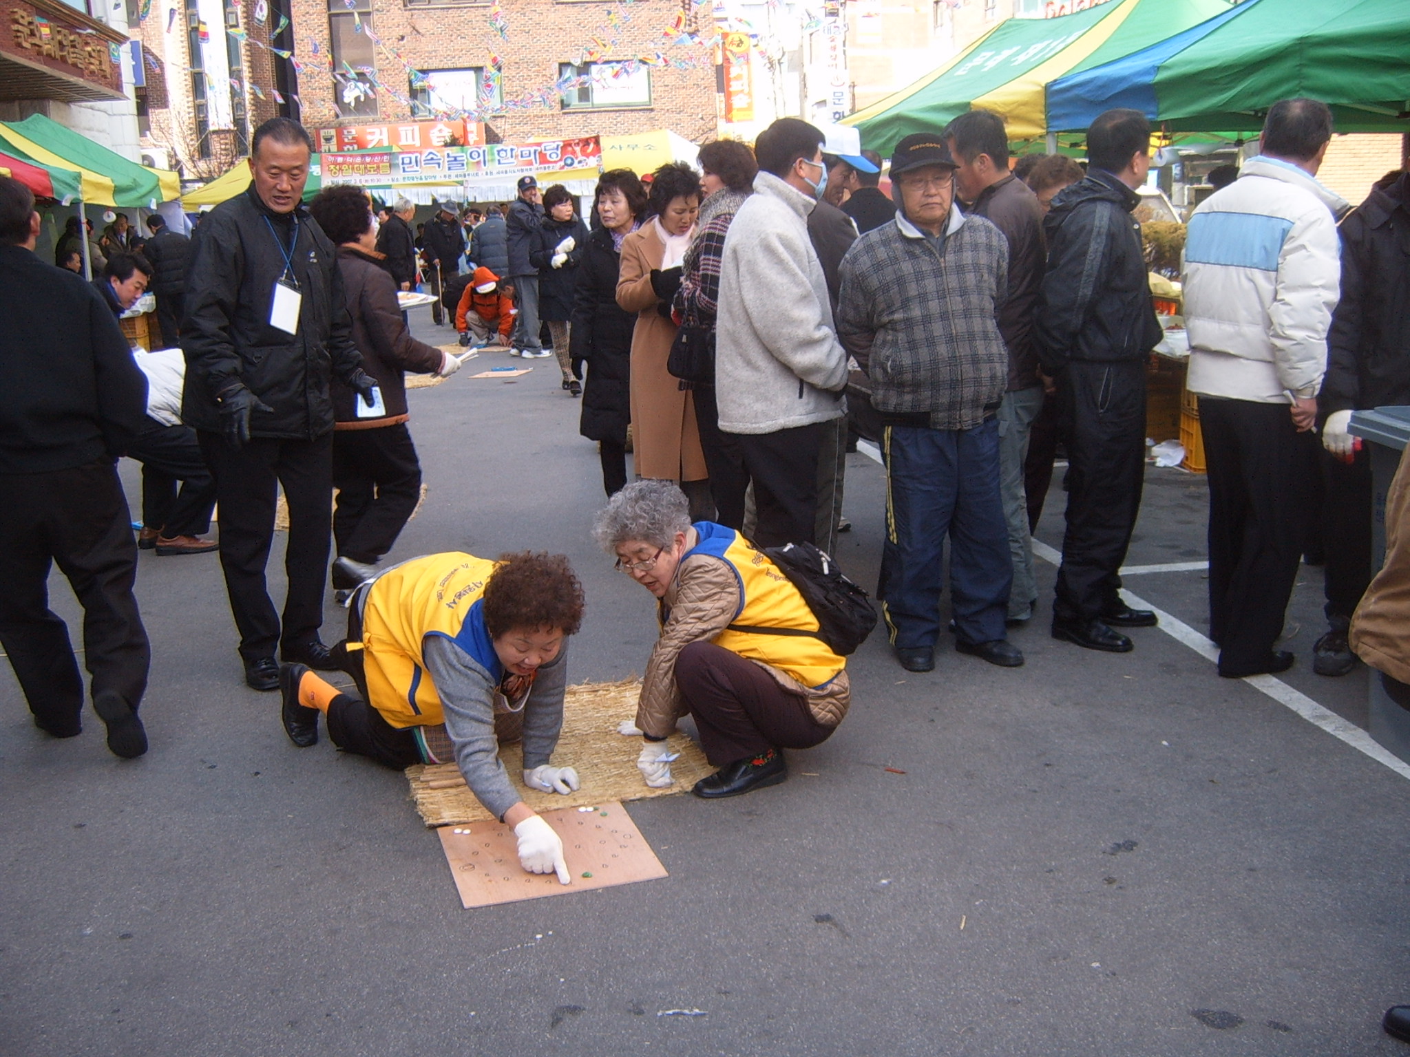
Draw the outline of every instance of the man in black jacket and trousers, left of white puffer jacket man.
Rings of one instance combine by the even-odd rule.
[[[1043,221],[1048,266],[1034,334],[1058,379],[1067,428],[1067,531],[1053,602],[1053,638],[1108,653],[1152,627],[1155,613],[1121,600],[1145,479],[1145,373],[1160,324],[1151,304],[1141,224],[1131,211],[1151,168],[1151,125],[1108,110],[1087,130],[1087,178],[1053,199]]]

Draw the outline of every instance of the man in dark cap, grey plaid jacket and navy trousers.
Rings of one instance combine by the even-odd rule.
[[[955,648],[1015,668],[1004,617],[1014,579],[998,488],[1008,350],[995,313],[1008,241],[955,204],[945,140],[916,132],[891,155],[900,211],[842,259],[838,334],[871,379],[885,426],[887,574],[881,612],[901,667],[935,667],[950,537]]]

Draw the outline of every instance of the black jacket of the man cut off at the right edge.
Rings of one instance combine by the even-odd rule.
[[[1318,410],[1410,404],[1410,176],[1378,183],[1341,221],[1341,302]]]

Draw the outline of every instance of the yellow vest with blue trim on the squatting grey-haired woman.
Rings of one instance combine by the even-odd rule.
[[[732,624],[818,630],[818,617],[767,554],[722,524],[698,521],[694,527],[701,538],[682,561],[692,554],[712,554],[723,558],[739,578],[740,607]],[[847,665],[845,658],[832,653],[832,647],[814,636],[725,629],[715,636],[713,643],[740,657],[778,668],[804,686],[821,686]]]

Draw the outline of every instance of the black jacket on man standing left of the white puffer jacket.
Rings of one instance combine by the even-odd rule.
[[[1034,319],[1048,373],[1072,359],[1145,359],[1160,342],[1141,224],[1131,216],[1139,203],[1139,194],[1101,169],[1053,199],[1043,220],[1048,265]]]

